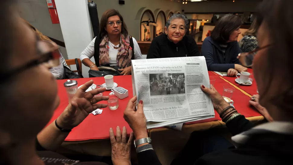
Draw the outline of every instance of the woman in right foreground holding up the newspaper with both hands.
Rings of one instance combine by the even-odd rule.
[[[235,147],[227,140],[216,141],[213,136],[208,136],[209,134],[205,134],[207,138],[202,138],[204,136],[200,134],[206,132],[198,131],[192,134],[191,138],[195,139],[188,141],[183,154],[179,154],[171,165],[292,163],[293,77],[288,76],[291,75],[292,64],[284,63],[292,60],[292,5],[293,2],[287,0],[264,0],[259,6],[264,20],[257,35],[260,49],[253,60],[253,72],[259,89],[259,104],[267,109],[275,121],[254,127],[254,124],[231,107],[214,87],[209,89],[201,86],[201,89],[210,95],[215,110],[233,134],[231,140]],[[280,27],[284,28],[280,30]],[[240,58],[246,56],[242,54]],[[134,131],[137,143],[142,141],[140,139],[148,138],[148,135],[143,102],[139,102],[135,111],[136,101],[136,97],[130,99],[124,118]],[[211,139],[214,141],[210,141]],[[147,140],[149,142],[150,139]],[[151,144],[137,144],[139,164],[161,164]]]

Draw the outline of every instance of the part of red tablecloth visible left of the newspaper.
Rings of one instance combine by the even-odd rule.
[[[95,78],[84,78],[75,79],[78,86],[84,84],[85,82],[93,79],[95,84],[105,83],[104,77]],[[58,96],[60,97],[60,105],[55,110],[54,115],[49,123],[54,121],[66,108],[68,105],[68,99],[66,95],[66,89],[63,83],[66,80],[57,80],[58,83]],[[107,139],[109,138],[109,129],[119,126],[122,128],[125,126],[127,128],[127,133],[130,134],[132,131],[127,122],[123,118],[123,112],[130,98],[133,97],[132,92],[132,80],[131,76],[114,76],[114,82],[128,90],[128,97],[120,100],[118,109],[112,111],[108,107],[103,108],[103,112],[100,115],[89,114],[80,125],[73,128],[69,135],[66,137],[65,141],[84,141],[89,139]],[[103,92],[103,95],[109,95],[111,91]],[[107,101],[102,101],[101,103],[107,104]]]

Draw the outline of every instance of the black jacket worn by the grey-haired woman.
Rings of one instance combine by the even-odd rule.
[[[191,36],[185,35],[179,43],[174,44],[168,39],[166,34],[161,34],[153,39],[147,53],[147,59],[190,57],[199,55],[200,52],[198,51],[197,44]]]

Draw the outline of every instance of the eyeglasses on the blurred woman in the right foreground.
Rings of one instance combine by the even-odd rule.
[[[260,48],[257,48],[253,51],[250,51],[250,52],[243,52],[243,53],[239,53],[238,54],[238,59],[240,61],[240,63],[245,66],[245,67],[251,67],[252,66],[252,62],[253,62],[253,58],[254,56],[256,55],[257,51],[259,50],[262,50],[262,49],[265,49],[267,47],[270,47],[271,45],[266,45],[264,47],[260,47]]]

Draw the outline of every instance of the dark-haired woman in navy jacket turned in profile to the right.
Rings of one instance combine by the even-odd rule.
[[[201,56],[205,57],[208,70],[227,72],[227,76],[236,76],[247,71],[237,59],[240,47],[237,39],[241,34],[241,19],[237,15],[227,14],[217,21],[211,36],[206,37],[201,47]]]

